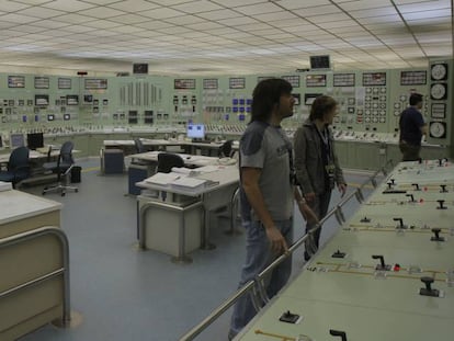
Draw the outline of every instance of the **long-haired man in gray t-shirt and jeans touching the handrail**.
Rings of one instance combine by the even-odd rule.
[[[316,219],[294,185],[292,143],[281,122],[293,115],[292,86],[277,78],[260,81],[252,93],[251,122],[240,139],[240,207],[246,228],[246,263],[239,287],[288,250],[293,239],[294,200],[303,216]],[[287,282],[292,258],[266,279],[273,297]],[[231,340],[257,314],[250,295],[236,303],[228,338]]]

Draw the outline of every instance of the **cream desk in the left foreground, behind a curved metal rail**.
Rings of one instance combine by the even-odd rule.
[[[11,190],[0,192],[0,245],[8,237],[44,226],[60,226],[61,204]],[[16,340],[36,328],[61,319],[64,280],[39,282],[12,294],[3,293],[64,266],[65,250],[46,235],[0,247],[0,340]]]

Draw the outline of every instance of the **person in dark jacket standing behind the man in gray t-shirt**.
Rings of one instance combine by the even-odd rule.
[[[347,183],[342,169],[334,152],[334,144],[329,125],[332,124],[338,111],[338,103],[328,95],[315,99],[308,120],[295,133],[295,173],[303,195],[317,215],[325,217],[331,200],[331,191],[338,185],[342,196],[345,194]],[[308,221],[306,232],[315,227]],[[314,242],[318,248],[320,239],[319,228],[314,232]],[[305,251],[305,260],[310,255]]]

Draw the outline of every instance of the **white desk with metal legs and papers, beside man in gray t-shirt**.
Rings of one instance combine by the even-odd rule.
[[[162,207],[162,209],[169,209],[169,205],[174,205],[175,207],[183,207],[181,203],[169,203],[164,202],[162,203],[159,201],[159,193],[160,192],[167,192],[168,197],[169,194],[179,194],[183,195],[183,197],[193,197],[192,202],[189,202],[190,208],[193,208],[191,206],[194,202],[200,202],[203,205],[203,223],[202,223],[202,248],[204,249],[212,249],[214,246],[209,243],[208,241],[208,234],[209,234],[209,212],[213,209],[216,209],[218,207],[227,206],[231,204],[231,197],[238,187],[238,181],[239,181],[239,173],[238,173],[238,167],[237,166],[218,166],[218,170],[209,173],[203,173],[195,177],[196,179],[203,179],[209,181],[209,185],[197,187],[197,189],[185,189],[183,186],[174,186],[172,184],[168,185],[161,185],[156,183],[150,183],[147,181],[140,181],[137,183],[137,186],[151,190],[151,191],[158,191],[158,198],[150,198],[148,201],[148,204],[154,207]],[[177,209],[177,208],[175,208]],[[182,212],[184,214],[184,212]],[[145,218],[145,214],[139,214],[139,219]],[[152,217],[150,217],[152,218]],[[150,219],[147,219],[150,220]],[[151,221],[151,220],[150,220]],[[154,220],[155,227],[157,228],[169,228],[168,224],[163,224],[163,226],[160,226],[161,224]],[[143,247],[146,247],[146,235],[148,229],[152,229],[152,224],[150,225],[145,224],[145,221],[139,221],[139,226],[141,227],[141,231],[139,232],[139,243]],[[179,248],[175,255],[178,259],[184,260],[185,252],[184,247],[185,240],[181,239],[182,230],[184,230],[184,221],[180,223],[177,230],[177,236],[172,237],[172,239],[179,240]],[[184,235],[184,232],[183,232]],[[186,234],[188,235],[188,234]],[[184,238],[183,238],[184,239]]]

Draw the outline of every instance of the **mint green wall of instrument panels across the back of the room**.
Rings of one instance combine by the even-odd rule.
[[[450,66],[449,90],[453,89],[453,61]],[[424,84],[401,86],[402,71],[422,71],[425,75]],[[367,73],[383,72],[384,84],[363,86],[363,77]],[[354,83],[349,87],[334,87],[333,78],[338,73],[352,73]],[[9,76],[23,76],[24,88],[9,88]],[[408,104],[410,92],[417,91],[424,95],[423,114],[428,122],[431,117],[430,99],[430,66],[417,69],[389,70],[353,70],[353,71],[308,71],[287,75],[261,76],[218,76],[218,77],[164,77],[164,76],[129,76],[129,77],[67,77],[46,75],[7,75],[0,73],[0,120],[3,135],[10,132],[43,130],[59,133],[71,130],[100,130],[107,127],[172,127],[183,130],[188,121],[203,122],[212,133],[241,132],[250,117],[247,104],[234,104],[251,99],[251,93],[260,77],[291,76],[299,78],[299,87],[294,93],[300,96],[300,105],[295,107],[295,115],[284,122],[290,129],[296,128],[307,117],[309,106],[305,95],[324,93],[334,96],[340,103],[340,112],[334,126],[338,130],[394,133],[397,128],[398,113]],[[47,78],[48,89],[36,89],[35,77]],[[322,87],[309,87],[308,79],[325,78]],[[71,82],[70,89],[59,89],[59,78]],[[232,78],[243,78],[243,89],[230,89]],[[217,89],[204,89],[217,81]],[[38,79],[39,80],[39,79]],[[106,89],[87,89],[86,83],[97,86],[106,82]],[[193,89],[174,89],[175,80],[180,84],[193,86]],[[45,83],[45,82],[44,82]],[[238,84],[238,83],[235,83]],[[453,144],[452,94],[446,101],[447,134],[444,138],[431,139],[441,145]],[[35,105],[35,95],[48,95],[48,105]],[[68,105],[67,96],[76,95],[78,105]],[[91,103],[84,102],[84,96],[91,95]],[[238,112],[235,112],[238,110]],[[148,112],[148,114],[146,114]],[[48,121],[54,115],[54,121]],[[242,121],[240,118],[243,118]],[[65,120],[68,118],[68,120]],[[439,118],[436,118],[439,120]],[[149,123],[152,121],[152,124]]]

